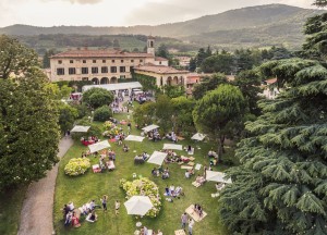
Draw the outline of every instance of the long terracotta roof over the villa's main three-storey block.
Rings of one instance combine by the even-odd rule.
[[[68,50],[58,54],[52,55],[51,58],[153,58],[150,53],[134,53],[134,52],[123,52],[120,50]]]

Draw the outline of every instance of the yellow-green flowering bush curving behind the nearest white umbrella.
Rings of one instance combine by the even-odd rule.
[[[129,182],[122,178],[120,181],[120,186],[125,190],[126,199],[130,199],[131,197],[136,195],[149,197],[150,201],[154,205],[154,208],[150,209],[145,215],[155,218],[159,214],[161,209],[161,198],[159,195],[159,188],[154,182],[149,181],[146,177],[135,180],[133,182]]]

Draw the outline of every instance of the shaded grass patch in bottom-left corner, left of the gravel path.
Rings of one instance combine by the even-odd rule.
[[[0,193],[0,234],[16,235],[27,186]]]

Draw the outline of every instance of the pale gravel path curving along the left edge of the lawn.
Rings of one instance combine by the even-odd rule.
[[[73,145],[70,137],[59,143],[58,157],[62,158]],[[53,196],[58,173],[57,163],[47,176],[32,183],[25,195],[21,211],[19,235],[51,235],[53,232]]]

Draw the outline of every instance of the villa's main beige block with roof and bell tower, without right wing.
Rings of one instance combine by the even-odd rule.
[[[50,58],[51,82],[92,81],[94,84],[114,84],[118,79],[132,78],[136,66],[153,64],[168,65],[165,58],[155,57],[154,37],[147,41],[147,53],[120,50],[68,50]]]

